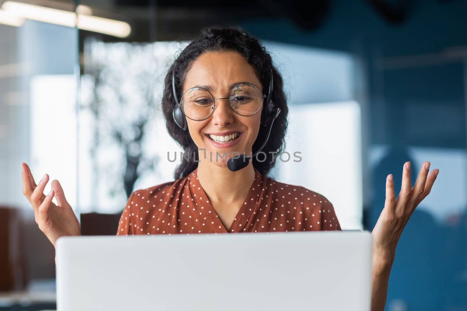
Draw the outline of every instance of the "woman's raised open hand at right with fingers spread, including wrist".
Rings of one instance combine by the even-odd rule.
[[[409,221],[418,204],[432,190],[433,183],[438,176],[439,169],[428,172],[430,162],[425,162],[418,173],[415,186],[412,188],[410,182],[410,162],[403,167],[402,187],[397,200],[394,194],[394,180],[392,174],[386,178],[386,201],[375,228],[371,233],[373,237],[373,263],[384,265],[389,269],[394,261],[396,245],[402,231]]]

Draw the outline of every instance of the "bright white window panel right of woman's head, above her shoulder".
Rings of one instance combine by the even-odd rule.
[[[342,229],[362,230],[360,105],[290,105],[285,141],[290,160],[277,161],[276,180],[324,195]],[[299,162],[294,152],[301,152]]]

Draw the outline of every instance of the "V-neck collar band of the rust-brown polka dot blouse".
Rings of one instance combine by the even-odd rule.
[[[203,187],[198,180],[198,167],[190,174],[190,191],[194,196],[199,211],[206,218],[207,224],[214,233],[232,233],[241,232],[246,228],[246,223],[253,213],[255,206],[260,198],[262,189],[262,174],[255,168],[255,180],[250,187],[247,197],[241,204],[240,210],[234,218],[230,228],[225,228],[219,216],[211,205]]]

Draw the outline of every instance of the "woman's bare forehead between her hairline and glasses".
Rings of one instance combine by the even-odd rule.
[[[262,89],[255,68],[235,51],[209,51],[198,56],[185,75],[183,90],[211,85],[214,91],[227,90],[232,83],[249,82]]]

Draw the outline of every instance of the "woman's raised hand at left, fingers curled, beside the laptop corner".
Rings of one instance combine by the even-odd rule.
[[[52,181],[52,190],[46,196],[44,188],[49,182],[49,175],[45,174],[44,178],[36,185],[31,170],[26,163],[21,165],[21,171],[23,194],[32,205],[35,222],[54,247],[60,236],[79,235],[78,218],[76,218],[70,204],[66,201],[62,186],[58,180]],[[58,206],[52,202],[54,195],[57,198]]]

